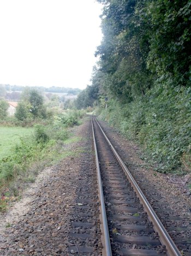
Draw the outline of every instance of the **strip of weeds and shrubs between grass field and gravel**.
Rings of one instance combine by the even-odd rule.
[[[68,111],[55,116],[49,125],[35,124],[33,132],[20,136],[8,156],[0,160],[0,212],[10,200],[16,200],[20,192],[35,181],[41,169],[57,163],[61,158],[75,152],[64,149],[70,138],[69,127],[80,124],[84,111]],[[65,121],[65,117],[68,121]],[[75,123],[71,120],[74,120]],[[64,122],[63,122],[64,119]]]

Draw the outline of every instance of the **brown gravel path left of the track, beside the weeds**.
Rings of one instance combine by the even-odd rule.
[[[70,255],[71,219],[76,206],[79,177],[92,155],[90,122],[75,127],[82,140],[67,145],[82,149],[76,157],[64,158],[56,166],[45,169],[22,200],[0,218],[1,255]],[[10,227],[5,228],[7,225]],[[99,242],[99,241],[98,241]],[[98,254],[92,254],[98,255]]]

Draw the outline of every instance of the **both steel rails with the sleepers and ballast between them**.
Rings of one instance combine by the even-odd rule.
[[[99,197],[102,202],[104,194],[105,204],[101,211],[104,254],[181,255],[94,117],[92,127]]]

